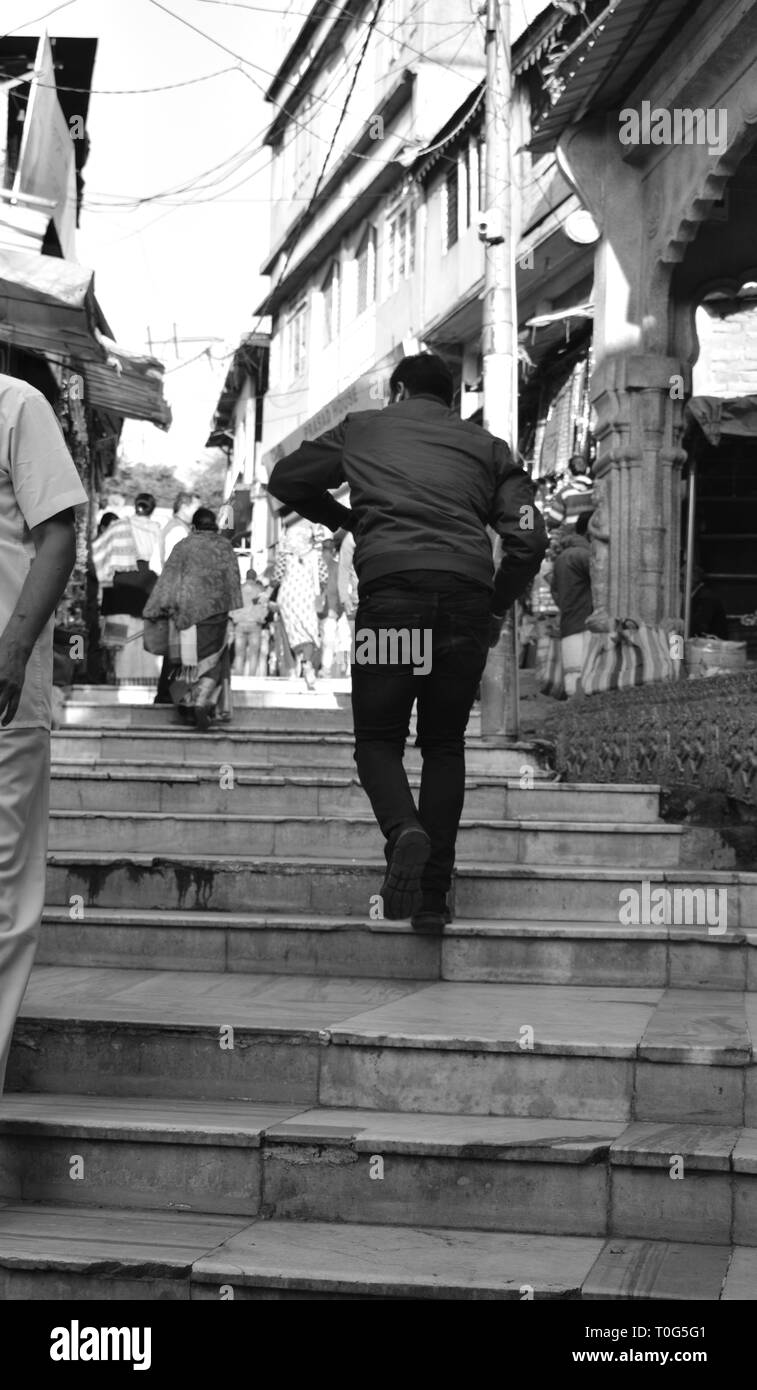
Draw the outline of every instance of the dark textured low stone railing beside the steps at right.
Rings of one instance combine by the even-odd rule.
[[[569,781],[694,785],[757,805],[757,670],[572,699],[542,735]]]

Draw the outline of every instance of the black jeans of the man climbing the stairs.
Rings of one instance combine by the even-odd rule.
[[[425,892],[447,892],[451,883],[465,726],[486,664],[490,612],[489,589],[443,571],[393,574],[360,595],[351,667],[357,773],[388,840],[415,819],[431,837]],[[399,637],[382,639],[390,630]],[[417,808],[403,764],[415,701],[424,762]]]

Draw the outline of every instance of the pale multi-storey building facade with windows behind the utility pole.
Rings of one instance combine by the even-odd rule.
[[[314,110],[324,110],[319,74],[326,75],[328,93],[328,75],[350,70],[347,60],[365,21],[360,6],[349,8],[353,21],[333,36],[339,49],[329,61],[319,58],[318,49],[318,42],[326,44],[328,32],[314,31],[308,21],[269,92],[271,100],[285,96],[286,108],[268,136],[274,249],[264,265],[272,288],[260,306],[271,316],[264,470],[349,410],[381,407],[393,366],[421,346],[450,361],[460,411],[475,417],[482,409],[482,28],[460,3],[392,7],[392,28],[385,15],[372,40],[372,60],[356,82],[350,118],[313,199],[322,146],[315,140],[303,156],[303,125]],[[528,147],[533,115],[546,101],[540,64],[571,19],[553,6],[535,6],[529,13],[535,18],[526,25],[522,10],[513,47],[513,145],[522,341],[519,445],[539,473],[564,467],[576,448],[588,449],[586,391],[576,392],[575,381],[578,364],[586,385],[593,250],[585,238],[571,235],[576,217],[586,214],[554,152],[532,157]],[[297,56],[306,49],[310,65],[296,82]],[[368,46],[367,60],[371,51]],[[328,120],[333,131],[331,108]],[[292,182],[300,164],[288,154],[294,146],[303,161],[300,185]],[[294,195],[296,186],[299,202],[286,199],[283,189]],[[569,410],[556,413],[558,398]]]

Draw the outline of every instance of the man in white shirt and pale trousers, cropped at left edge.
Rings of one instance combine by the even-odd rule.
[[[86,500],[44,396],[0,374],[0,1093],[44,905],[53,616]]]

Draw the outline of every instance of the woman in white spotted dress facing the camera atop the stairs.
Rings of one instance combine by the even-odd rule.
[[[308,689],[315,689],[319,664],[321,589],[328,580],[326,564],[310,527],[294,524],[281,543],[274,582],[279,584],[276,605],[286,641],[294,659],[300,657]]]

